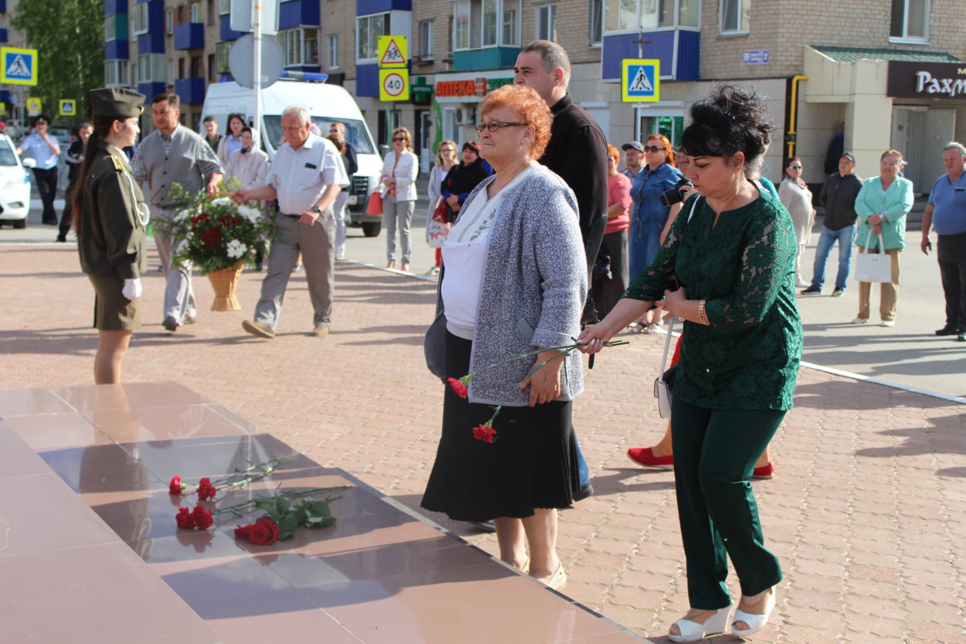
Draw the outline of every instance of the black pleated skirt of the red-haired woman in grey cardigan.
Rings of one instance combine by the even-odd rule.
[[[472,342],[446,332],[446,377],[469,373]],[[507,392],[509,393],[509,392]],[[470,404],[448,386],[442,406],[442,435],[422,507],[454,520],[526,518],[535,508],[565,508],[580,487],[573,404],[554,401],[534,408],[504,406],[488,443],[472,428],[494,407]]]

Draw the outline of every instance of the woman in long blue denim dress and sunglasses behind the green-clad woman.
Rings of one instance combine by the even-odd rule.
[[[668,218],[681,210],[681,203],[665,206],[661,194],[671,189],[684,175],[674,167],[674,153],[670,141],[663,134],[651,134],[644,144],[644,167],[631,187],[631,235],[628,254],[631,264],[631,281],[657,257],[661,247],[661,232]],[[655,311],[648,311],[640,319],[634,331],[655,333],[661,326],[661,318]]]

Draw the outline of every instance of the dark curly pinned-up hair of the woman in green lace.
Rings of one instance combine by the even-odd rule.
[[[769,123],[764,100],[739,85],[722,85],[691,106],[692,122],[681,134],[689,156],[745,154],[746,176],[753,176],[768,150],[775,127]]]

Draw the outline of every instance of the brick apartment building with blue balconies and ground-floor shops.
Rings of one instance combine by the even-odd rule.
[[[231,78],[228,50],[241,37],[229,7],[105,0],[105,82],[149,96],[175,91],[185,126],[200,128],[205,90]],[[474,136],[475,107],[512,82],[521,45],[547,38],[570,53],[570,91],[615,145],[651,132],[677,144],[691,103],[736,82],[768,98],[773,180],[797,154],[820,181],[845,123],[846,149],[865,175],[896,147],[911,157],[909,173],[931,184],[942,172],[927,160],[939,156],[936,141],[966,138],[964,26],[966,6],[955,0],[283,0],[275,40],[287,69],[344,85],[380,142],[391,127],[410,128],[423,170],[440,139]],[[408,39],[409,101],[379,100],[381,35]],[[621,100],[620,62],[638,57],[661,62],[658,102]]]

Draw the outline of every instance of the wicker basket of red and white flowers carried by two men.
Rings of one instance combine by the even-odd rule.
[[[162,224],[162,233],[174,238],[172,265],[197,266],[208,275],[215,295],[213,311],[241,309],[235,296],[241,266],[253,265],[258,253],[267,255],[276,235],[272,218],[258,202],[239,205],[232,201],[231,193],[239,187],[229,177],[218,184],[217,194],[204,190],[191,194],[181,184],[172,183],[175,215]]]

